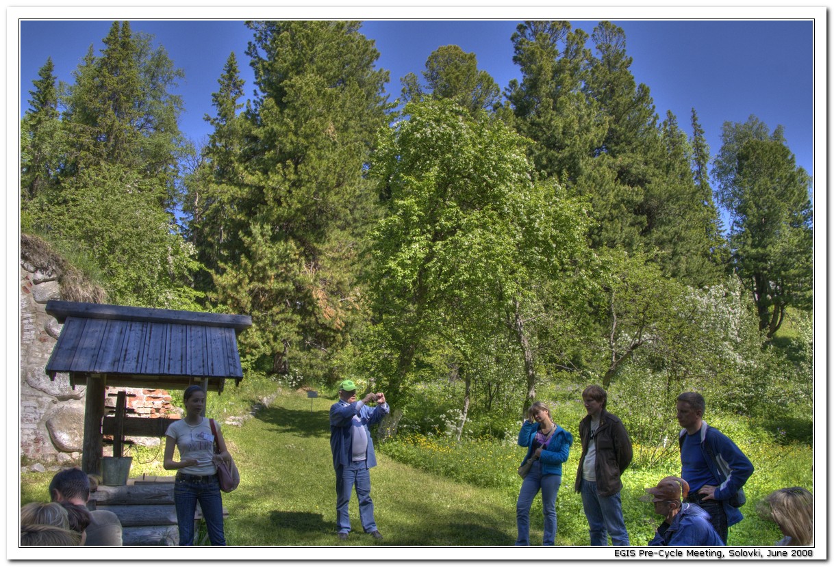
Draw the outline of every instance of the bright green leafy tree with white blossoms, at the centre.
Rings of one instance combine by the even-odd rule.
[[[535,397],[543,281],[567,301],[582,286],[586,217],[555,183],[534,183],[525,141],[503,122],[450,101],[411,103],[384,131],[372,173],[387,187],[374,231],[374,313],[386,337],[388,390],[408,386],[415,360],[441,336],[471,371],[501,333],[524,358]],[[557,278],[557,274],[562,279]]]

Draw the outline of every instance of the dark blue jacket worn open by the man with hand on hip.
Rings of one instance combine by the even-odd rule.
[[[736,525],[744,518],[744,515],[741,514],[741,510],[730,505],[730,499],[753,474],[753,464],[729,437],[716,430],[715,427],[706,425],[706,421],[701,425],[700,434],[701,452],[704,454],[706,465],[710,467],[712,475],[721,480],[714,498],[719,500],[724,508],[727,515],[727,527]],[[681,446],[683,446],[684,435],[686,435],[685,429],[681,430],[678,438]],[[712,454],[716,455],[717,463],[710,458],[709,451],[704,448],[706,444],[710,445]]]

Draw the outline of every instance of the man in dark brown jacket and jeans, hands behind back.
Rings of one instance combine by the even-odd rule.
[[[590,545],[629,545],[620,505],[620,475],[631,464],[631,440],[620,418],[605,410],[608,394],[598,385],[582,392],[588,415],[579,422],[582,455],[574,489],[582,495]]]

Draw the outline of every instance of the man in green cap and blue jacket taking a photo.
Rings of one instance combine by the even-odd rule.
[[[368,405],[371,402],[376,404],[373,409]],[[330,450],[336,470],[336,530],[339,540],[347,540],[350,532],[348,505],[354,486],[359,499],[362,528],[374,539],[382,539],[374,520],[374,501],[370,499],[370,468],[376,466],[376,456],[368,426],[379,423],[388,412],[382,392],[369,392],[357,400],[353,380],[339,383],[339,401],[330,406]]]

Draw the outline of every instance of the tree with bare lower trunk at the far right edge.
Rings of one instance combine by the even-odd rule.
[[[725,122],[713,177],[731,214],[736,273],[752,292],[759,328],[772,337],[788,307],[810,310],[813,293],[811,177],[787,147],[782,127]]]

